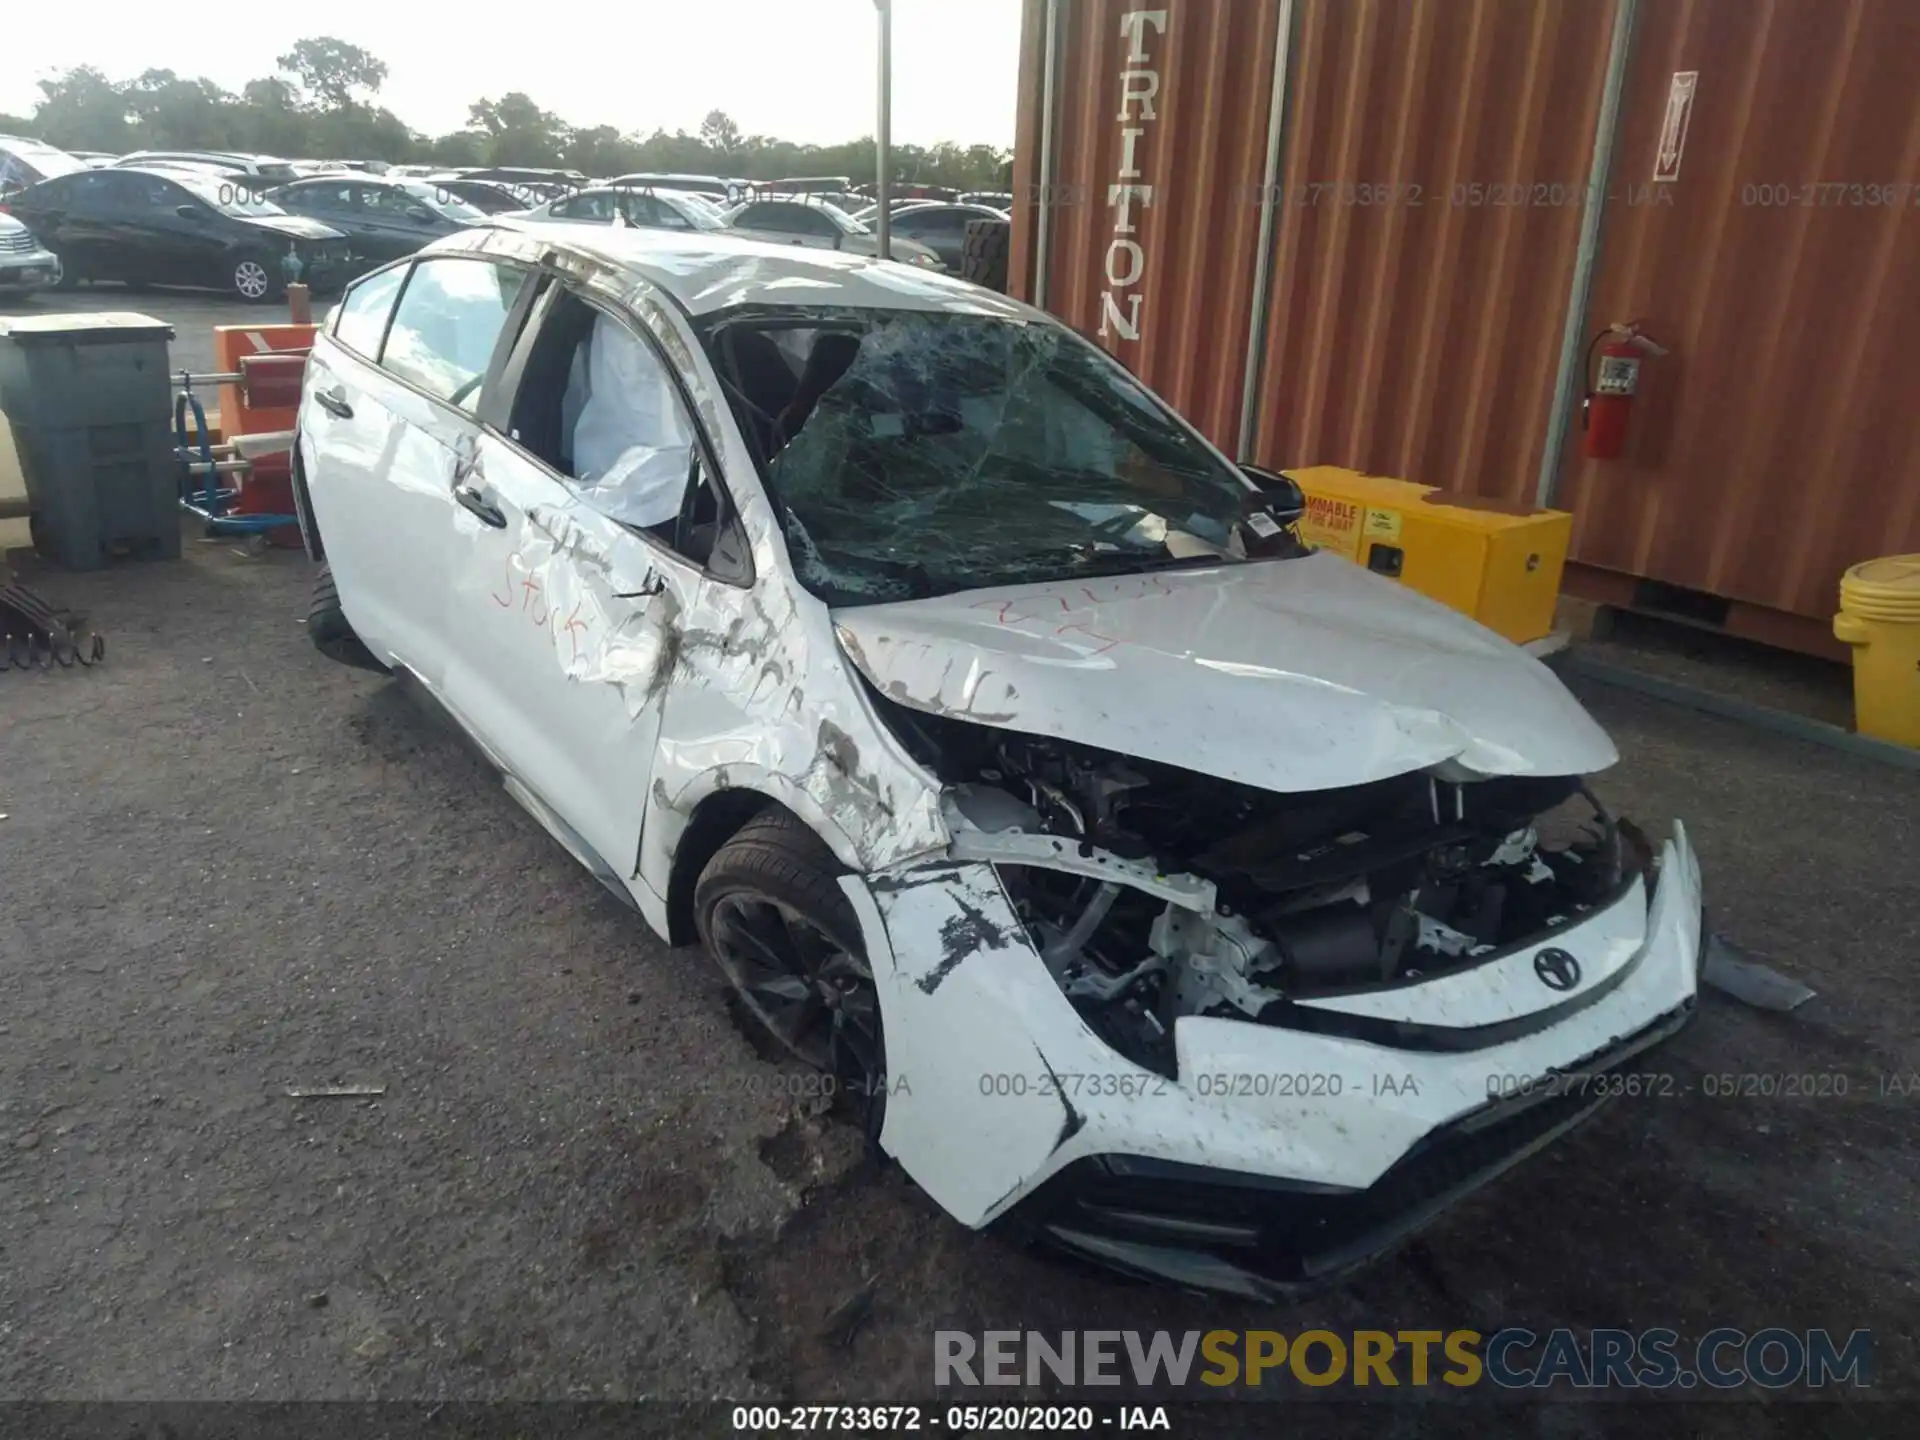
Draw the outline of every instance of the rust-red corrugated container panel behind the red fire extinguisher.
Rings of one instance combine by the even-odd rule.
[[[1674,355],[1626,459],[1569,444],[1580,561],[1820,616],[1847,564],[1920,551],[1916,56],[1914,0],[1642,0],[1590,319]],[[1644,204],[1674,71],[1680,177]]]

